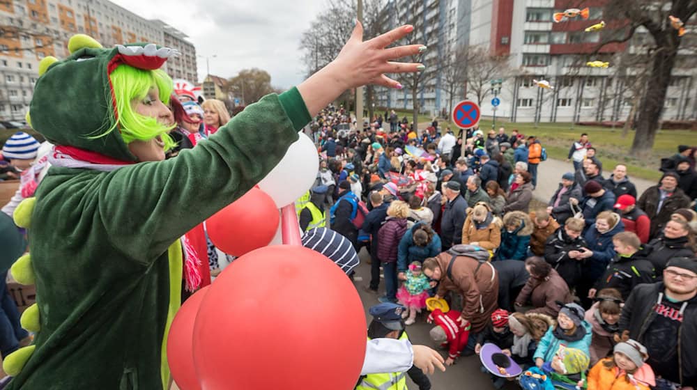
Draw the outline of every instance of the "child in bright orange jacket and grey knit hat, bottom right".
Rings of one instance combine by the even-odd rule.
[[[588,373],[588,389],[649,390],[656,385],[646,348],[634,340],[615,345],[612,357],[599,361]]]

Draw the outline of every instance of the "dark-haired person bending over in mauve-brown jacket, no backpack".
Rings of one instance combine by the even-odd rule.
[[[530,257],[525,260],[525,265],[530,279],[516,297],[516,306],[530,305],[533,309],[529,312],[556,318],[560,309],[557,302],[572,302],[569,286],[544,258]]]

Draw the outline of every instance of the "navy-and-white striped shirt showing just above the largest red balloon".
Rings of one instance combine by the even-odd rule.
[[[348,238],[328,228],[314,228],[302,235],[302,246],[327,256],[346,274],[360,263]]]

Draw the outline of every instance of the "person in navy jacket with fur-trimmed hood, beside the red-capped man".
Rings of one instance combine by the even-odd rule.
[[[581,281],[576,285],[576,296],[581,299],[583,306],[590,306],[588,291],[602,276],[610,261],[615,257],[615,247],[612,237],[625,230],[620,216],[611,211],[598,214],[595,225],[583,235],[588,248],[581,251],[569,252],[569,256],[576,256],[584,260]],[[580,253],[579,253],[580,252]]]

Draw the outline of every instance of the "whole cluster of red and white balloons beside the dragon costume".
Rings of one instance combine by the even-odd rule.
[[[259,188],[208,219],[210,240],[240,257],[171,324],[167,359],[181,390],[353,388],[366,341],[353,283],[321,253],[268,246],[278,208],[302,196],[318,169],[314,143],[300,134]],[[298,228],[294,210],[282,228]]]

